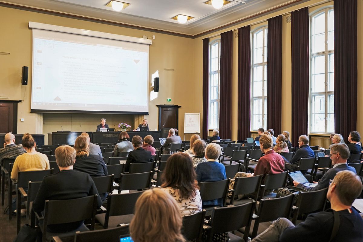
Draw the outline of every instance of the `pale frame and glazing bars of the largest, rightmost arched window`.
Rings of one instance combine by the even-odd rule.
[[[329,17],[328,17],[328,13],[329,11],[333,10],[333,16],[334,16],[334,8],[329,6],[327,8],[323,8],[323,9],[319,9],[313,13],[310,14],[310,33],[309,33],[309,37],[310,37],[310,46],[309,46],[309,58],[310,58],[310,62],[309,62],[309,129],[310,129],[310,133],[312,134],[330,134],[332,132],[334,132],[334,130],[328,130],[328,124],[329,124],[329,115],[333,114],[334,115],[334,98],[333,98],[333,111],[329,112],[330,110],[330,105],[329,105],[329,100],[331,100],[331,95],[333,95],[334,97],[334,86],[333,86],[333,90],[329,91],[328,90],[328,79],[329,79],[329,73],[331,73],[331,71],[329,71],[329,58],[330,55],[333,54],[333,83],[334,83],[334,43],[333,43],[333,50],[328,50],[328,21],[329,21]],[[315,52],[313,53],[313,19],[314,17],[320,15],[321,13],[325,13],[325,50],[324,51],[320,51],[320,52]],[[333,25],[334,26],[334,25]],[[333,29],[333,33],[334,33],[334,29]],[[315,57],[319,57],[319,56],[324,56],[325,58],[325,67],[324,67],[324,75],[325,75],[325,79],[324,79],[324,86],[325,86],[325,90],[324,91],[315,91],[313,92],[313,61]],[[323,74],[323,73],[321,73]],[[313,112],[314,108],[313,108],[313,103],[314,103],[314,97],[316,96],[324,96],[324,130],[314,130],[314,114],[319,114],[319,112]],[[321,113],[322,114],[322,113]],[[335,127],[334,127],[335,129]]]

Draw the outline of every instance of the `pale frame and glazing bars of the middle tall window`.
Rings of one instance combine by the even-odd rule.
[[[251,115],[251,120],[250,120],[250,130],[251,131],[257,131],[258,128],[261,127],[253,127],[253,123],[254,123],[254,115],[262,115],[262,128],[264,128],[266,130],[266,124],[267,124],[267,53],[265,53],[265,48],[266,48],[266,52],[267,52],[267,33],[265,32],[268,31],[268,25],[262,25],[259,26],[256,29],[253,29],[251,31],[251,87],[250,87],[250,97],[251,97],[251,111],[250,111],[250,115]],[[258,32],[262,31],[262,62],[258,62],[258,63],[254,63],[254,38],[255,38],[255,34],[257,34]],[[266,58],[265,58],[266,55]],[[266,59],[266,60],[265,60]],[[258,66],[262,66],[262,96],[254,96],[254,68],[258,67]],[[266,76],[265,76],[266,75]],[[265,88],[266,86],[266,88]],[[261,114],[255,114],[254,113],[254,101],[256,100],[261,100],[261,105],[262,105],[262,113]]]

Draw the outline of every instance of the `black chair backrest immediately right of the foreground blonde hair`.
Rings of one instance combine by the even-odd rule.
[[[203,233],[205,210],[199,213],[184,216],[183,217],[183,227],[181,227],[181,234],[188,241],[196,239],[196,241],[201,241],[201,235]]]

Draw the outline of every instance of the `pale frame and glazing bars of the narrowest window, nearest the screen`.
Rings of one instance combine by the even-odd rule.
[[[215,45],[219,45],[218,48],[218,56],[214,57],[214,58],[218,58],[218,68],[217,70],[212,71],[212,48]],[[208,129],[219,129],[219,112],[220,112],[220,62],[221,62],[221,39],[216,39],[213,40],[212,42],[209,43],[209,77],[208,77]],[[218,81],[217,81],[217,85],[216,86],[211,86],[211,81],[212,81],[212,76],[213,74],[218,74]],[[217,87],[217,99],[212,99],[212,88],[213,87]],[[217,114],[211,114],[211,106],[212,103],[216,103],[218,106],[218,112]],[[213,127],[211,125],[211,120],[212,118],[215,119],[215,117],[212,116],[217,116],[217,119],[215,120],[216,122],[216,127]]]

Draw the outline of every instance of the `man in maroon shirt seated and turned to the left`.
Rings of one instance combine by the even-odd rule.
[[[265,155],[258,160],[254,169],[254,176],[262,175],[262,183],[265,182],[266,174],[277,174],[284,172],[285,161],[281,155],[276,153],[273,148],[273,141],[269,135],[261,135],[260,147]],[[265,195],[271,193],[271,190],[266,190]]]

